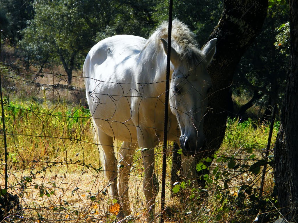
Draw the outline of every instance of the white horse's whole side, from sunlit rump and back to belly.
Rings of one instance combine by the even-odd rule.
[[[131,89],[136,81],[134,65],[145,43],[142,37],[109,37],[91,48],[83,65],[87,101],[96,125],[123,141],[136,138],[132,133],[136,130],[131,120]]]

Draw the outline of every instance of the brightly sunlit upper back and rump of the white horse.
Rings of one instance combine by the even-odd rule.
[[[86,57],[84,77],[106,82],[120,83],[126,79],[133,82],[133,77],[129,75],[135,62],[133,58],[142,50],[145,41],[142,37],[131,35],[117,35],[101,40],[91,48]]]

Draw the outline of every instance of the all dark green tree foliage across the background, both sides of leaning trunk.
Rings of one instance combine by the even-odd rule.
[[[81,68],[95,43],[116,34],[148,38],[168,16],[167,0],[0,0],[0,4],[1,29],[24,65],[39,71],[62,65],[69,84],[73,70]],[[220,0],[176,1],[173,17],[193,30],[201,46],[217,26],[223,5]],[[234,100],[233,106],[231,98],[227,108],[230,116],[247,117],[252,105],[264,108],[282,99],[288,27],[286,1],[270,0],[263,30],[235,71],[230,95],[243,98],[243,102]]]

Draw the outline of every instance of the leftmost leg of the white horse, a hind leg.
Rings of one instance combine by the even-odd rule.
[[[117,159],[114,153],[113,138],[108,136],[103,131],[98,129],[98,139],[100,146],[104,153],[104,171],[105,176],[109,180],[111,186],[111,192],[113,199],[119,200],[118,189],[117,189]]]

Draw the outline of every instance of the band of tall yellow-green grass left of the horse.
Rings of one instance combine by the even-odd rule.
[[[83,107],[10,102],[5,111],[9,162],[18,168],[33,160],[59,162],[66,150],[72,156],[93,142],[89,110]]]

